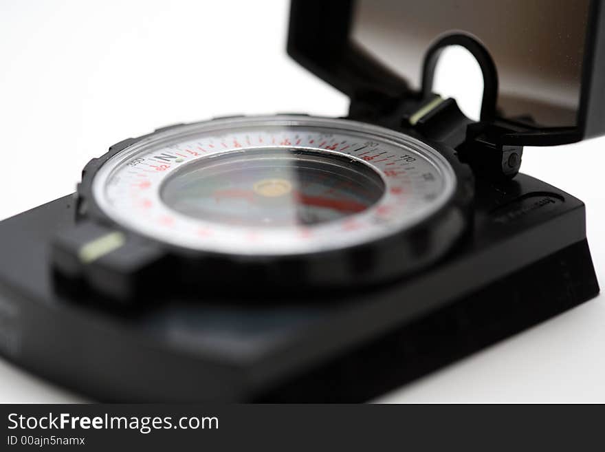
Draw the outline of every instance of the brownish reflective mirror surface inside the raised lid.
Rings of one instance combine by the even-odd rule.
[[[542,127],[573,127],[589,3],[358,0],[353,40],[419,89],[430,45],[447,34],[470,34],[496,64],[499,116]],[[452,77],[464,76],[454,72]]]

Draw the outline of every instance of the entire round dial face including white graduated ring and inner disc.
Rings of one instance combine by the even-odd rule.
[[[437,151],[349,120],[273,116],[155,133],[93,181],[115,222],[170,244],[295,255],[364,244],[442,208],[456,181]]]

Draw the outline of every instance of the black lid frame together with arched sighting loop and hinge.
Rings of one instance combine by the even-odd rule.
[[[579,100],[575,123],[569,127],[542,125],[531,118],[528,121],[529,114],[507,117],[498,111],[497,62],[464,30],[442,34],[426,49],[417,90],[352,39],[354,21],[354,0],[292,0],[288,54],[349,96],[350,118],[417,131],[445,142],[474,166],[479,177],[514,176],[524,146],[553,146],[605,134],[605,8],[601,0],[589,2],[580,30],[584,47]],[[432,92],[434,68],[448,45],[465,47],[481,67],[484,89],[478,122],[464,116],[455,100]]]

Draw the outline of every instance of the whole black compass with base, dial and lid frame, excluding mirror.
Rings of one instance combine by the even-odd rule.
[[[288,46],[347,118],[157,129],[1,222],[0,352],[100,400],[360,401],[594,297],[584,204],[518,171],[603,132],[600,4],[566,127],[508,114],[489,36],[438,34],[413,89],[335,21],[354,7],[294,1]],[[448,45],[481,67],[480,120],[432,93]]]

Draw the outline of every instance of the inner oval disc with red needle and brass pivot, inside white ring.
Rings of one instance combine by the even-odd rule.
[[[355,160],[266,148],[185,165],[162,200],[200,220],[240,226],[311,226],[365,211],[384,193],[380,175]]]

